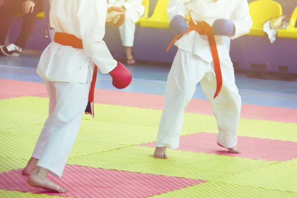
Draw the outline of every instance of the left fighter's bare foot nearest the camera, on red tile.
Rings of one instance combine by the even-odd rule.
[[[45,168],[36,167],[33,173],[28,177],[28,184],[32,187],[45,189],[56,193],[66,193],[68,190],[63,189],[47,179],[49,171]]]

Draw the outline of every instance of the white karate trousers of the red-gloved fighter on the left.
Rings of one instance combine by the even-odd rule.
[[[61,177],[88,103],[90,84],[49,82],[49,117],[32,157],[37,166]]]

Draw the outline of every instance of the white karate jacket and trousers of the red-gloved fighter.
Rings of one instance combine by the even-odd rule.
[[[94,65],[109,73],[117,62],[102,38],[107,2],[104,0],[52,0],[50,26],[82,39],[84,49],[50,43],[41,55],[37,73],[49,93],[49,117],[33,157],[37,166],[61,177],[88,103]]]

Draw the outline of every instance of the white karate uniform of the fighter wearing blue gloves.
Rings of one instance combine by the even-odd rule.
[[[216,19],[231,19],[236,28],[235,36],[231,39],[247,34],[252,25],[247,0],[218,0],[215,3],[211,0],[169,0],[167,12],[169,20],[175,15],[185,17],[188,14],[193,20],[205,21],[210,26]],[[226,148],[236,146],[241,97],[223,37],[215,36],[215,39],[223,77],[223,87],[216,99],[213,99],[216,79],[207,37],[192,31],[175,43],[179,49],[167,79],[156,147],[178,148],[184,111],[198,82],[212,105],[219,131],[218,143]]]

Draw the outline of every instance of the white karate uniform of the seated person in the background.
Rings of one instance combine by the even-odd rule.
[[[133,47],[135,23],[145,13],[143,0],[108,0],[108,7],[125,7],[125,21],[119,27],[122,44],[125,47]]]

